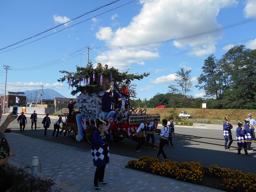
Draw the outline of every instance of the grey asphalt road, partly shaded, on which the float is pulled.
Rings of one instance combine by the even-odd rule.
[[[27,114],[27,118],[29,119],[30,115]],[[52,138],[52,130],[53,124],[58,119],[57,116],[50,116],[51,117],[51,127],[48,129],[47,134],[48,137],[44,136],[44,128],[42,122],[43,115],[39,115],[38,118],[38,131],[32,131],[30,126],[31,123],[28,120],[28,129],[25,129],[25,132],[19,131],[19,124],[16,122],[12,122],[9,127],[12,128],[13,132],[20,133],[22,135],[28,137],[34,137],[42,140],[49,140],[56,143],[66,144],[76,148],[83,148],[90,150],[90,145],[85,141],[76,141],[73,137],[60,137],[60,139]],[[3,115],[2,120],[6,118],[6,115]],[[16,121],[16,120],[15,120]],[[161,126],[159,126],[161,127]],[[201,128],[202,127],[202,128]],[[235,137],[235,125],[233,136]],[[212,138],[219,138],[223,139],[222,135],[222,126],[221,125],[206,125],[206,124],[196,124],[192,127],[190,126],[175,126],[175,132],[180,134],[187,134],[187,135],[194,135],[198,137],[212,137]],[[63,133],[62,133],[63,134]],[[254,162],[256,159],[256,152],[252,152],[252,156],[237,156],[237,149],[234,148],[233,151],[225,151],[224,147],[211,145],[206,143],[200,143],[195,141],[202,141],[202,142],[209,142],[214,144],[224,144],[223,140],[209,140],[204,138],[196,138],[191,136],[178,136],[182,139],[190,139],[189,140],[182,140],[182,139],[173,139],[173,144],[175,148],[171,147],[164,147],[164,151],[167,155],[167,158],[171,161],[177,161],[182,163],[186,162],[200,162],[202,165],[211,166],[212,164],[217,164],[220,167],[228,167],[232,170],[241,170],[243,172],[252,172],[256,174],[256,169],[253,169],[253,166],[244,166],[244,161],[251,161]],[[156,140],[158,140],[159,136],[156,135]],[[33,145],[33,143],[31,143]],[[123,141],[116,141],[110,143],[110,153],[127,156],[138,159],[141,156],[156,156],[158,149],[145,149],[141,148],[142,152],[136,153],[137,143],[135,141],[124,139]],[[256,143],[252,143],[252,148],[255,149]],[[232,146],[237,146],[236,142],[233,142]],[[243,152],[242,152],[243,153]]]

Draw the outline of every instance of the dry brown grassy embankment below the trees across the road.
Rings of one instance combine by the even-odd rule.
[[[173,108],[148,108],[147,113],[160,113],[161,119],[169,118],[170,111]],[[248,109],[196,109],[196,108],[176,108],[176,112],[187,111],[193,114],[197,119],[224,119],[228,116],[231,120],[244,120],[248,118],[247,114],[251,113],[252,118],[256,118],[256,110]]]

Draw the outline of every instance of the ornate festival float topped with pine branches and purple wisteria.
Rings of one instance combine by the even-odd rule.
[[[114,140],[123,140],[129,138],[137,141],[138,137],[145,136],[145,132],[135,133],[144,118],[152,122],[157,118],[160,121],[160,114],[140,114],[130,115],[121,120],[119,125],[115,123],[114,114],[119,108],[130,111],[130,102],[136,98],[136,84],[131,84],[134,79],[141,80],[147,77],[149,73],[143,75],[127,74],[119,72],[116,68],[92,68],[76,67],[76,72],[60,71],[64,77],[58,79],[59,82],[67,81],[71,94],[79,94],[76,98],[76,104],[79,111],[72,112],[72,120],[69,124],[76,124],[74,129],[77,141],[86,139],[91,143],[92,133],[96,130],[96,119],[99,117],[107,122],[106,128],[112,134]],[[137,74],[137,73],[135,73]],[[157,126],[157,125],[156,125]],[[151,132],[150,132],[151,133]],[[147,134],[147,133],[146,133]],[[152,143],[148,146],[158,147]]]

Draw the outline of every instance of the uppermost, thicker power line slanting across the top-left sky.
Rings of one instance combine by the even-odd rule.
[[[39,36],[39,35],[41,35],[41,34],[43,34],[43,33],[46,33],[47,31],[50,31],[50,30],[52,30],[52,29],[55,29],[55,28],[57,28],[57,27],[60,27],[60,26],[62,26],[62,25],[64,25],[64,24],[66,24],[66,23],[69,23],[69,22],[71,22],[71,21],[73,21],[73,20],[76,20],[76,19],[78,19],[78,18],[80,18],[80,17],[83,17],[84,15],[87,15],[87,14],[92,13],[92,12],[95,12],[95,11],[97,11],[97,10],[103,8],[103,7],[106,7],[106,6],[108,6],[108,5],[111,5],[111,4],[113,4],[113,3],[116,3],[117,1],[120,1],[120,0],[112,1],[112,2],[110,2],[110,3],[108,3],[108,4],[105,4],[105,5],[102,5],[102,6],[98,7],[98,8],[95,8],[95,9],[89,11],[89,12],[83,13],[82,15],[79,15],[79,16],[77,16],[77,17],[75,17],[75,18],[73,18],[73,19],[71,19],[71,20],[68,20],[68,21],[66,21],[66,22],[64,22],[64,23],[61,23],[61,24],[59,24],[59,25],[57,25],[57,26],[55,26],[55,27],[49,28],[49,29],[47,29],[47,30],[45,30],[45,31],[43,31],[43,32],[41,32],[41,33],[38,33],[38,34],[36,34],[36,35],[34,35],[34,36],[28,37],[28,38],[26,38],[26,39],[23,39],[23,40],[17,42],[17,43],[14,43],[14,44],[11,44],[11,45],[6,46],[6,47],[4,47],[4,48],[1,48],[0,51],[3,50],[3,49],[6,49],[6,48],[8,48],[8,47],[11,47],[11,46],[13,46],[13,45],[19,44],[19,43],[21,43],[21,42],[23,42],[23,41],[27,41],[28,39],[31,39],[31,38],[33,38],[33,37]],[[136,0],[135,0],[135,1],[136,1]]]

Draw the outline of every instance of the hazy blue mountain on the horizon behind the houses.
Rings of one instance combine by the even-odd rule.
[[[24,91],[25,96],[27,96],[28,101],[31,100],[37,100],[40,95],[41,89],[35,89],[31,91]],[[32,94],[31,94],[32,93]],[[43,89],[43,99],[54,99],[54,97],[61,97],[61,98],[67,98],[54,89]],[[39,98],[41,100],[41,96]]]

